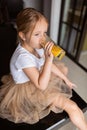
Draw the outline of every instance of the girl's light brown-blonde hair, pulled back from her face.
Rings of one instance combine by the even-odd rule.
[[[36,23],[44,19],[48,24],[46,17],[34,8],[25,8],[18,15],[16,19],[17,32],[23,32],[24,34],[30,33],[30,37],[35,28]],[[22,40],[19,37],[20,40]]]

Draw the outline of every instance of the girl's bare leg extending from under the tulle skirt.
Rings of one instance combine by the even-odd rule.
[[[54,104],[55,106],[63,108],[63,110],[68,113],[71,121],[79,130],[87,130],[87,122],[84,118],[84,114],[75,102],[60,94]]]

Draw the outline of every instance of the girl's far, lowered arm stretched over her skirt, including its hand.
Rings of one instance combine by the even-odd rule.
[[[55,64],[52,64],[52,72],[60,77],[64,82],[72,89],[73,87],[76,87],[75,84],[70,82],[70,80],[58,69],[58,67]]]

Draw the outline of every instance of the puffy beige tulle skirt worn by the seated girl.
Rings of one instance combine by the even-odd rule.
[[[66,74],[66,67],[57,63],[60,70]],[[46,90],[37,89],[31,82],[15,84],[12,76],[2,77],[3,85],[0,89],[0,117],[6,118],[15,123],[34,124],[50,111],[55,113],[63,110],[53,105],[58,95],[67,98],[72,96],[72,91],[67,85],[52,74]],[[61,96],[59,96],[59,100]]]

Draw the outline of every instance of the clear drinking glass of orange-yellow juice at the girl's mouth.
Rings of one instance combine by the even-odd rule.
[[[58,57],[58,59],[61,60],[65,56],[65,51],[61,47],[56,45],[56,43],[47,35],[45,36],[45,39],[42,40],[41,42],[41,45],[43,46],[43,48],[48,41],[54,43],[53,48],[52,48],[52,54],[54,55],[54,57]]]

